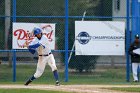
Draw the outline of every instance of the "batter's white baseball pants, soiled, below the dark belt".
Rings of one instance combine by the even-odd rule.
[[[49,56],[39,56],[37,69],[34,74],[35,78],[39,78],[43,74],[47,63],[51,67],[52,71],[57,70],[53,54],[50,54]]]

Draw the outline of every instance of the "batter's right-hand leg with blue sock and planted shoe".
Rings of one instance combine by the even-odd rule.
[[[57,67],[56,67],[56,64],[55,64],[55,59],[54,59],[54,56],[52,54],[48,58],[48,65],[52,69],[54,78],[56,80],[56,86],[59,86],[60,85],[60,83],[59,83],[59,76],[58,76]]]

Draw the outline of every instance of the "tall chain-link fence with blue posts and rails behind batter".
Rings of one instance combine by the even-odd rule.
[[[78,75],[81,73],[81,75],[94,76],[95,71],[99,71],[99,75],[102,74],[100,71],[108,68],[123,69],[126,73],[123,77],[124,81],[130,81],[131,62],[128,48],[134,40],[134,35],[140,34],[139,0],[1,0],[0,6],[0,81],[6,78],[3,75],[6,72],[2,72],[6,70],[2,69],[3,65],[12,68],[11,80],[16,82],[20,79],[16,74],[17,66],[32,67],[37,63],[37,54],[31,55],[28,50],[12,49],[12,22],[56,23],[56,48],[53,53],[57,66],[63,73],[60,78],[65,82],[71,80],[71,76],[75,76],[74,78],[78,80],[76,72]],[[74,23],[80,20],[125,21],[126,54],[124,56],[75,56]]]

